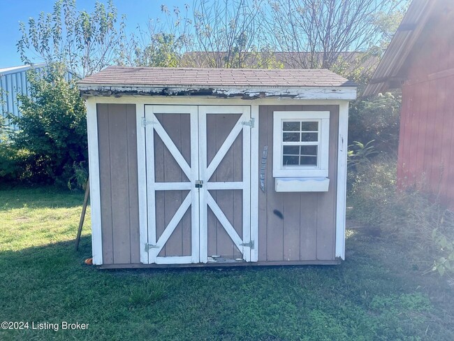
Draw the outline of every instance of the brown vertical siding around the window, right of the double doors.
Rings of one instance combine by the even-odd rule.
[[[330,111],[328,192],[277,193],[272,177],[273,111]],[[258,193],[258,261],[330,261],[335,259],[337,189],[337,106],[261,106],[259,154],[268,145],[266,193]],[[279,213],[281,217],[279,217]]]

